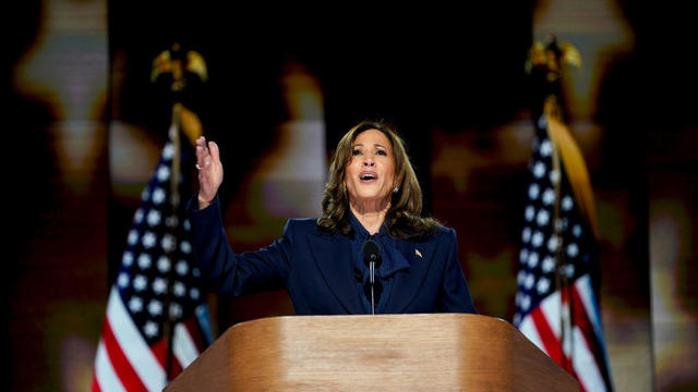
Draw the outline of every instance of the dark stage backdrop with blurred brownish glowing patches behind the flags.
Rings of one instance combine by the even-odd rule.
[[[546,33],[582,58],[565,99],[598,207],[616,389],[696,388],[698,77],[684,58],[687,10],[622,0],[179,7],[12,4],[10,390],[89,388],[108,291],[170,122],[152,62],[174,42],[206,62],[208,78],[185,105],[221,146],[237,250],[268,244],[288,217],[316,216],[340,135],[385,119],[408,143],[425,211],[458,232],[478,309],[512,320],[533,135],[524,63]],[[657,28],[662,21],[672,23]],[[293,314],[282,292],[207,302],[216,335]]]

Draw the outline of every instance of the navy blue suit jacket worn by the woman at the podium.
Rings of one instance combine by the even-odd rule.
[[[317,230],[314,219],[289,219],[284,236],[256,252],[234,254],[218,198],[203,209],[190,204],[194,249],[210,289],[232,295],[287,289],[298,315],[364,314],[354,281],[351,243]],[[440,228],[426,241],[397,242],[410,268],[398,271],[386,314],[477,313],[464,277],[456,233]]]

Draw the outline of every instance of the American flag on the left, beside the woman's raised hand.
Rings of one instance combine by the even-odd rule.
[[[170,128],[133,217],[107,303],[93,391],[161,391],[212,341],[191,226],[180,203],[191,194],[191,180],[179,168],[193,167],[192,154],[178,148],[177,130]]]

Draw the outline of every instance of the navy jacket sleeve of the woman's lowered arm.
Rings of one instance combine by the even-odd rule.
[[[444,233],[443,246],[446,249],[443,282],[438,295],[437,309],[443,313],[469,313],[477,314],[468,282],[458,261],[458,242],[456,232],[447,229]]]

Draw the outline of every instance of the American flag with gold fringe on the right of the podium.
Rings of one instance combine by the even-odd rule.
[[[575,376],[582,391],[613,389],[592,282],[597,261],[594,220],[575,192],[566,161],[577,151],[567,130],[542,114],[537,124],[524,212],[514,324]],[[554,125],[554,126],[553,126]],[[553,138],[551,138],[553,135]],[[565,167],[568,163],[568,167]],[[583,181],[582,181],[583,182]],[[590,185],[587,189],[590,192]]]

